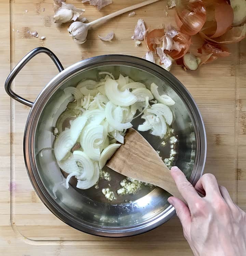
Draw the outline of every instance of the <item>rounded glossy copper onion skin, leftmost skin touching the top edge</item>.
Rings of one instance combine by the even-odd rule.
[[[195,35],[206,21],[206,8],[202,0],[177,0],[176,22],[180,32],[186,35]]]

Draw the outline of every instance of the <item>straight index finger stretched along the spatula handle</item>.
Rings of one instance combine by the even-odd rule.
[[[187,204],[190,206],[195,199],[199,198],[199,195],[195,191],[195,188],[191,185],[191,183],[186,179],[186,176],[182,171],[176,166],[172,167],[171,175],[176,183],[176,186],[184,198]]]

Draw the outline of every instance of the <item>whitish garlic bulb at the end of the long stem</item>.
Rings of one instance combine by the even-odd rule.
[[[68,32],[70,33],[70,36],[73,37],[74,41],[78,44],[83,44],[86,41],[89,28],[90,26],[88,24],[76,21],[69,26]]]

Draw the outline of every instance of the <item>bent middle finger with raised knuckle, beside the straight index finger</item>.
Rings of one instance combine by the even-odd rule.
[[[218,182],[215,176],[211,173],[203,174],[202,177],[197,181],[195,190],[199,191],[206,197],[220,196],[220,190]]]

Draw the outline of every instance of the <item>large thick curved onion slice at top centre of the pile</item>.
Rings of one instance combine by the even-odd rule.
[[[120,91],[115,80],[107,79],[105,92],[109,100],[118,106],[130,106],[137,101],[137,97],[128,90]]]

